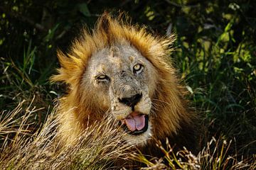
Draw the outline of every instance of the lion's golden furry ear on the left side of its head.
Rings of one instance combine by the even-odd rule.
[[[77,57],[65,55],[62,51],[57,51],[60,68],[57,69],[58,74],[50,77],[51,82],[62,81],[65,84],[75,84],[75,81],[80,77],[81,61]]]

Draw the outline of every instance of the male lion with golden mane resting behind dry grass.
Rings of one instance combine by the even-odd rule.
[[[108,112],[124,141],[147,154],[166,138],[176,148],[196,149],[196,114],[169,57],[174,35],[154,36],[121,18],[103,13],[68,53],[58,50],[60,68],[51,80],[69,87],[60,98],[61,140],[72,144]]]

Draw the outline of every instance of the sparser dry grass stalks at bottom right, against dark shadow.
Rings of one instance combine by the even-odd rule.
[[[160,142],[157,142],[157,146],[165,154],[165,157],[161,159],[147,159],[142,154],[132,154],[133,159],[139,160],[146,164],[145,170],[150,169],[255,169],[256,159],[244,159],[238,157],[237,154],[230,155],[230,146],[232,140],[227,142],[226,140],[215,140],[213,137],[210,142],[207,142],[206,147],[203,147],[201,151],[194,155],[186,148],[180,152],[173,152],[173,149],[169,145],[169,141],[166,140],[167,149],[162,147]]]

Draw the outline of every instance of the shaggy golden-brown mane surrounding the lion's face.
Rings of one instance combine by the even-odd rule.
[[[142,26],[131,25],[127,17],[123,20],[120,18],[112,18],[110,14],[104,13],[92,33],[83,30],[81,38],[73,42],[68,54],[58,51],[61,67],[51,80],[63,81],[69,86],[68,94],[60,98],[58,113],[61,124],[59,130],[62,140],[67,144],[72,144],[87,125],[101,120],[102,114],[99,113],[105,111],[105,108],[95,105],[97,102],[90,96],[93,93],[90,93],[90,89],[83,88],[81,83],[92,53],[127,42],[141,52],[157,70],[157,86],[151,98],[153,137],[156,140],[178,137],[178,133],[184,131],[181,130],[182,125],[191,130],[189,134],[193,133],[193,114],[187,110],[183,87],[179,84],[176,70],[170,61],[170,46],[174,42],[174,36],[156,37]],[[189,141],[189,137],[186,138],[186,134],[181,136],[188,140],[184,143],[193,142]]]

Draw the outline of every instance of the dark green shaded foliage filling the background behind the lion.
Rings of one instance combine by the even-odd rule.
[[[63,86],[48,78],[55,51],[68,51],[81,27],[91,28],[105,9],[127,11],[154,35],[175,33],[178,74],[201,114],[208,141],[234,140],[229,152],[252,157],[256,139],[256,2],[202,0],[0,1],[0,108],[25,98],[52,108]],[[58,91],[58,93],[56,93]],[[57,95],[57,96],[56,96]],[[31,117],[40,125],[43,110]],[[22,115],[22,114],[21,114]]]

